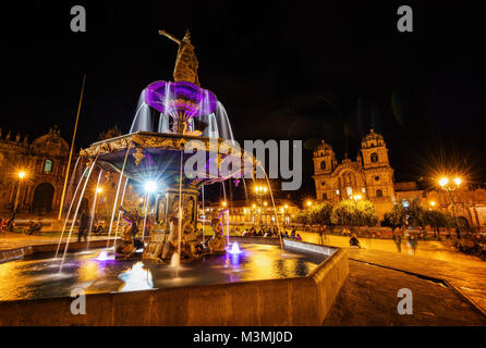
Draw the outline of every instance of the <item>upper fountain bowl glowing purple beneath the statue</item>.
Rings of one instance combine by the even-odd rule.
[[[208,115],[216,111],[217,98],[207,89],[187,82],[157,80],[145,89],[147,105],[161,113],[184,113],[189,117]]]

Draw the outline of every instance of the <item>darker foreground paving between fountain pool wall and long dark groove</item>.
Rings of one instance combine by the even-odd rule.
[[[412,314],[399,314],[400,288],[412,290]],[[350,261],[350,274],[326,320],[326,326],[469,326],[486,325],[451,288],[414,275]]]

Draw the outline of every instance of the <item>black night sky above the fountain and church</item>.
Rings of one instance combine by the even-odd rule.
[[[31,137],[58,124],[70,141],[87,74],[76,145],[114,124],[126,133],[139,92],[171,79],[186,28],[202,87],[224,104],[235,138],[326,139],[354,159],[370,126],[390,148],[397,181],[459,165],[486,181],[484,12],[460,1],[51,1],[2,10],[3,129]],[[87,33],[70,30],[85,5]],[[397,9],[414,33],[397,30]],[[474,5],[473,5],[474,4]],[[304,194],[313,192],[311,151]]]

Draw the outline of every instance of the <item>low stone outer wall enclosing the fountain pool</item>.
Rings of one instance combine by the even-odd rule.
[[[320,325],[348,273],[347,252],[332,248],[305,277],[93,294],[85,315],[70,297],[2,301],[0,325]]]

